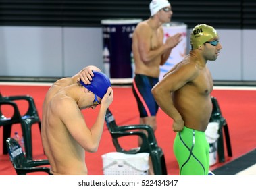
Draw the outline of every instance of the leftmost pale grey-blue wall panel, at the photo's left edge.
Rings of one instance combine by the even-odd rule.
[[[61,28],[0,27],[0,76],[62,76]]]

